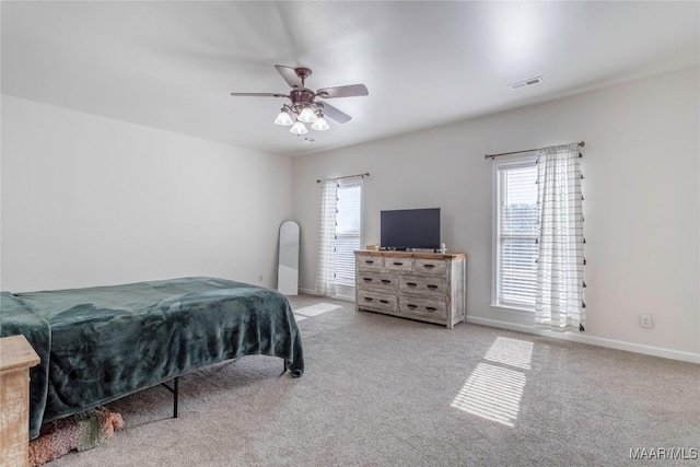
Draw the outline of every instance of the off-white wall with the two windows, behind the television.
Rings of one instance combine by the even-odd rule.
[[[298,159],[300,287],[314,289],[316,178],[369,171],[364,244],[377,243],[382,209],[442,208],[448,250],[468,255],[469,318],[529,327],[532,315],[490,307],[491,163],[483,155],[585,140],[585,335],[693,360],[700,353],[699,102],[693,68]],[[639,326],[642,313],[653,315],[653,329]]]

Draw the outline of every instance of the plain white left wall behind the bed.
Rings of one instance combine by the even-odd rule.
[[[1,162],[2,290],[276,284],[289,159],[3,95]]]

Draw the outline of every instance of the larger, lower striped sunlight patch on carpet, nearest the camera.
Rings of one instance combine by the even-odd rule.
[[[524,388],[523,373],[479,363],[451,406],[513,427],[520,412]]]

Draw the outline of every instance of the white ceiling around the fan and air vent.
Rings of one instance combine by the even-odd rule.
[[[299,155],[697,65],[690,2],[10,2],[2,93],[259,151]],[[288,93],[364,83],[329,101],[313,143],[272,124]],[[541,75],[512,91],[508,84]],[[335,125],[334,125],[335,124]]]

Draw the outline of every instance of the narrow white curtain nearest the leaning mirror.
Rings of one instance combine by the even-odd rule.
[[[320,225],[318,229],[318,257],[316,258],[316,293],[335,295],[336,212],[338,209],[338,182],[320,184]]]

